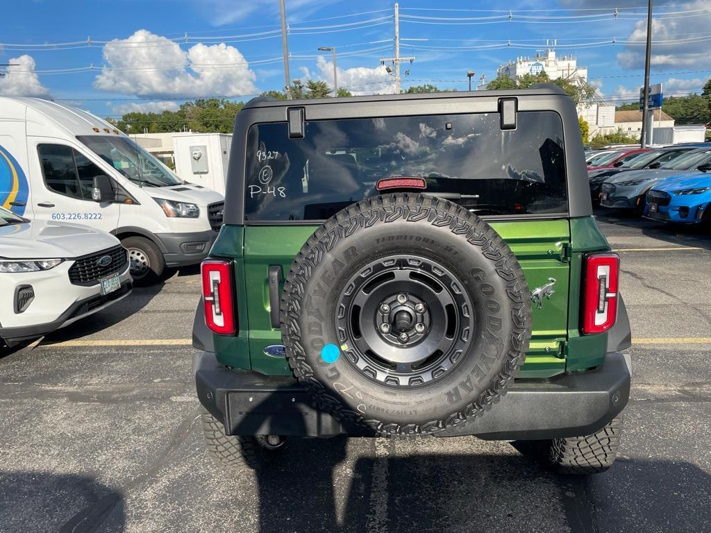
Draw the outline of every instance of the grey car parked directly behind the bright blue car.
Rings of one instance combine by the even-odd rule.
[[[711,149],[700,148],[688,151],[659,168],[621,172],[610,176],[600,185],[600,207],[631,209],[641,215],[644,195],[655,183],[681,173],[707,171],[711,171]]]

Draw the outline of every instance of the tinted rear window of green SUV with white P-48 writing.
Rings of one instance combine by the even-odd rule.
[[[425,179],[479,215],[567,211],[560,116],[519,112],[515,130],[499,115],[456,114],[255,124],[247,136],[245,219],[318,221],[378,195],[393,176]]]

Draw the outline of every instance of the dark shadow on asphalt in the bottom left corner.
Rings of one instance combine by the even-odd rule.
[[[114,509],[122,500],[87,476],[0,470],[0,531],[93,532],[109,512],[122,531],[124,515]]]

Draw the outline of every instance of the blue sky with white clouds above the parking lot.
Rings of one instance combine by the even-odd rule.
[[[284,87],[278,0],[1,0],[0,95],[38,96],[102,117],[178,109],[196,97],[246,101]],[[711,1],[655,0],[651,82],[666,94],[711,77]],[[387,93],[392,1],[286,0],[290,77],[354,94]],[[502,63],[543,51],[575,55],[610,102],[643,82],[646,1],[400,1],[402,87],[466,90]],[[406,72],[407,71],[407,72]],[[476,84],[475,84],[476,85]]]

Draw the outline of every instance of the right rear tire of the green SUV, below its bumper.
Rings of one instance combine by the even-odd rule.
[[[515,441],[513,447],[561,474],[598,474],[612,466],[622,436],[622,415],[592,435],[550,441]]]

